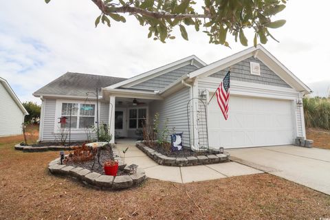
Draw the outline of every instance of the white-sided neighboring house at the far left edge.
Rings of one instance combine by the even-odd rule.
[[[0,77],[0,136],[20,135],[28,114],[8,82]]]

